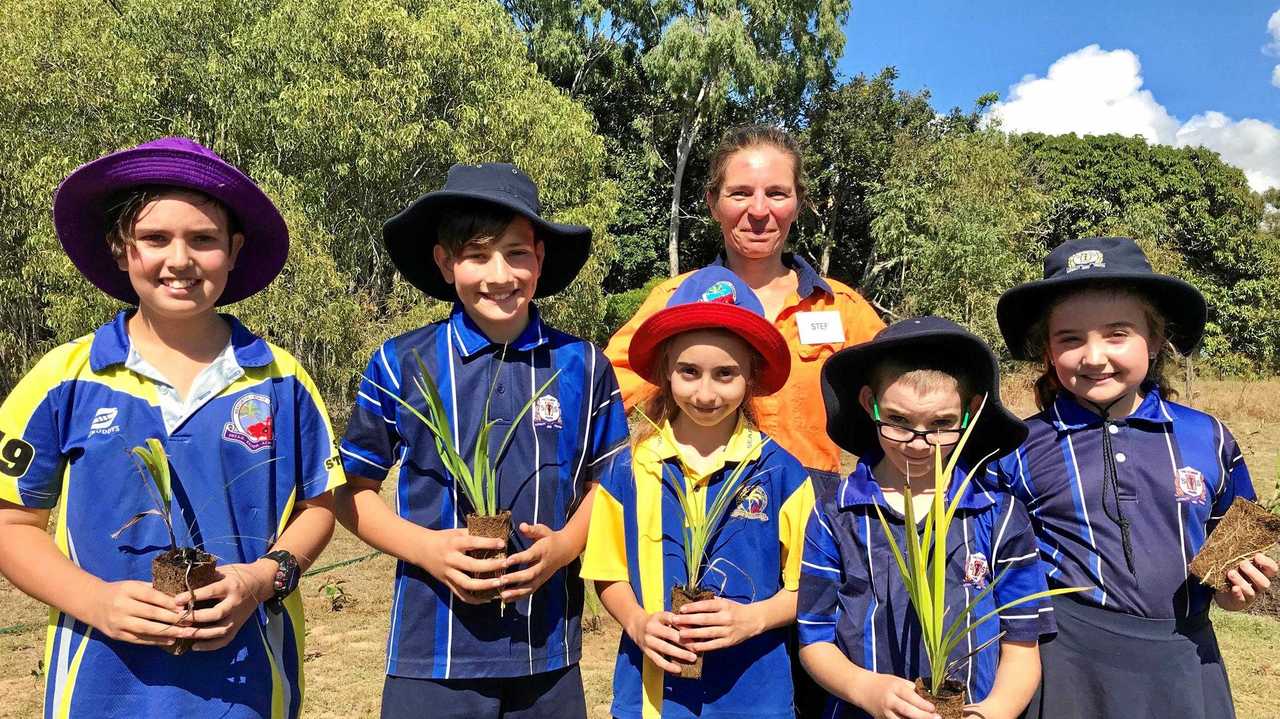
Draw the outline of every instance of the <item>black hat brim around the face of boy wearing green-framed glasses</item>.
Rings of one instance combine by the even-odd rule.
[[[931,351],[948,358],[964,358],[978,391],[987,404],[978,417],[961,457],[977,462],[988,454],[1004,457],[1027,439],[1027,425],[1000,402],[1000,366],[995,354],[977,336],[965,331],[937,331],[870,340],[841,349],[822,368],[822,398],[827,406],[827,434],[841,449],[863,457],[879,449],[879,430],[863,409],[858,395],[870,384],[870,372],[881,362],[905,349]]]

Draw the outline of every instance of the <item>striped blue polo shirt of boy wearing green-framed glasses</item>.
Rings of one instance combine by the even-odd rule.
[[[890,508],[872,475],[879,459],[869,454],[814,508],[805,531],[796,620],[801,645],[831,642],[864,669],[914,679],[928,670],[928,658],[920,645],[915,610],[876,513],[878,505],[899,548],[905,548],[905,519]],[[963,480],[964,470],[957,467],[947,490],[948,502]],[[996,577],[996,589],[978,603],[969,620],[1046,589],[1025,508],[1007,493],[975,480],[965,487],[947,533],[947,624]],[[1053,635],[1052,612],[1046,599],[1005,609],[998,622],[984,622],[970,632],[952,660],[1000,632],[1009,641],[1038,641]],[[1000,644],[995,642],[960,664],[952,678],[965,683],[970,701],[982,701],[996,681],[998,661]],[[832,699],[823,716],[868,714]]]

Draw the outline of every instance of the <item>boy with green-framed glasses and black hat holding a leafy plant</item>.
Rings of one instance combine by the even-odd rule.
[[[991,349],[941,317],[902,320],[872,342],[837,352],[823,367],[822,389],[827,432],[859,462],[818,499],[806,527],[800,659],[832,695],[823,716],[931,719],[934,706],[911,682],[928,669],[920,629],[877,507],[905,546],[906,481],[933,476],[934,452],[954,452],[983,398],[948,502],[975,462],[1011,452],[1027,429],[1000,403]],[[920,484],[931,489],[922,491]],[[954,558],[946,567],[946,615],[956,617],[997,574],[974,617],[1043,591],[1023,504],[979,482],[963,491],[947,540]],[[911,499],[915,516],[924,517],[934,500],[932,482],[916,482]],[[1016,716],[1039,679],[1038,642],[1053,631],[1043,599],[1002,612],[998,623],[979,626],[960,645],[948,678],[965,684],[982,716]]]

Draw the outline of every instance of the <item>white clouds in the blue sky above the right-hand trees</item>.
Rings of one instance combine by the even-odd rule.
[[[1267,27],[1280,43],[1280,12]],[[1272,81],[1280,81],[1280,67]],[[1244,170],[1253,189],[1280,187],[1280,128],[1216,111],[1181,123],[1142,83],[1134,52],[1089,45],[1060,58],[1044,77],[1024,77],[991,106],[988,118],[1007,132],[1137,134],[1147,142],[1203,146]]]

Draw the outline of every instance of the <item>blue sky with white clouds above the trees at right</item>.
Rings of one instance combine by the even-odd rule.
[[[844,74],[895,65],[940,111],[993,91],[1009,129],[1204,145],[1280,184],[1280,0],[854,0],[846,36]]]

